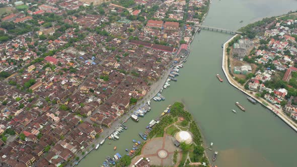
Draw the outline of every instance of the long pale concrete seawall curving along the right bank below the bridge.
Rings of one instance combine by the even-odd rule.
[[[224,71],[225,76],[227,77],[227,80],[229,82],[229,84],[231,84],[233,87],[235,87],[236,89],[240,90],[241,92],[243,92],[244,94],[253,97],[259,104],[263,105],[264,107],[266,107],[267,109],[269,109],[270,111],[272,111],[275,115],[277,115],[281,120],[283,120],[287,125],[289,125],[293,130],[295,130],[297,132],[297,128],[294,124],[291,123],[290,120],[288,120],[285,116],[283,116],[282,111],[277,111],[277,109],[272,108],[271,106],[266,106],[262,103],[262,101],[260,101],[259,99],[257,99],[255,96],[253,96],[252,94],[248,93],[246,90],[236,86],[234,84],[234,80],[233,78],[230,78],[229,76],[229,66],[228,63],[226,64],[226,47],[228,47],[228,44],[230,41],[232,41],[237,35],[233,36],[231,39],[229,39],[226,43],[224,43],[224,47],[223,47],[223,52],[222,52],[222,65],[221,68]],[[267,102],[268,103],[268,102]]]

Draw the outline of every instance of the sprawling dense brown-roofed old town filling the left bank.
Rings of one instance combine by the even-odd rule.
[[[86,2],[1,4],[1,165],[74,161],[179,61],[208,5]]]

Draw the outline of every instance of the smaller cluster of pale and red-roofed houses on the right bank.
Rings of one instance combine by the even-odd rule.
[[[234,42],[236,53],[233,57],[255,64],[235,67],[234,73],[247,75],[246,79],[236,78],[245,89],[256,92],[293,120],[297,120],[297,16],[290,13],[278,18],[267,18],[242,28],[252,47],[242,46],[248,39]],[[249,44],[251,43],[249,41]],[[229,46],[232,46],[230,44]],[[250,49],[248,52],[238,50]],[[230,50],[230,49],[229,49]],[[247,68],[248,67],[248,68]],[[238,76],[238,75],[237,75]]]

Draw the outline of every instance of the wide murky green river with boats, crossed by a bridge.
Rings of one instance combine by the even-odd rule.
[[[215,0],[203,25],[237,30],[264,17],[291,10],[297,10],[297,1]],[[105,141],[79,166],[99,166],[106,156],[115,152],[124,155],[125,148],[131,149],[132,139],[141,140],[138,133],[144,132],[152,119],[176,101],[183,102],[193,114],[206,145],[214,143],[213,150],[218,151],[214,164],[219,167],[296,166],[293,156],[297,155],[297,134],[269,110],[251,104],[243,93],[228,84],[221,70],[221,44],[231,37],[230,34],[206,30],[197,34],[178,81],[172,81],[171,87],[162,93],[166,100],[152,102],[152,110],[139,118],[138,123],[132,120],[125,123],[128,129],[119,135],[120,140]],[[216,73],[224,76],[224,82],[217,80]],[[241,112],[235,106],[236,101],[247,111]],[[238,113],[232,113],[232,109]],[[113,151],[114,146],[117,151]],[[207,154],[212,157],[213,151],[207,151]]]

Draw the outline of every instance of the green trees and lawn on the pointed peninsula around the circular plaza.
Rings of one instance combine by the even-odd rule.
[[[202,163],[205,162],[207,166],[210,166],[208,157],[202,146],[203,141],[200,129],[194,121],[193,116],[184,109],[184,105],[181,102],[175,102],[171,106],[170,113],[162,117],[160,122],[152,128],[150,133],[147,135],[147,141],[145,141],[145,143],[154,142],[154,138],[164,137],[165,135],[175,136],[175,134],[181,130],[188,131],[192,134],[193,143],[180,143],[179,148],[181,149],[180,153],[182,156],[179,161],[176,158],[173,158],[175,166],[187,166],[190,162],[200,162],[201,166]],[[142,143],[138,152],[135,153],[136,157],[137,155],[140,155],[140,150],[142,149],[142,146],[145,145],[145,143]],[[174,157],[177,157],[176,152],[177,151],[174,153]]]

